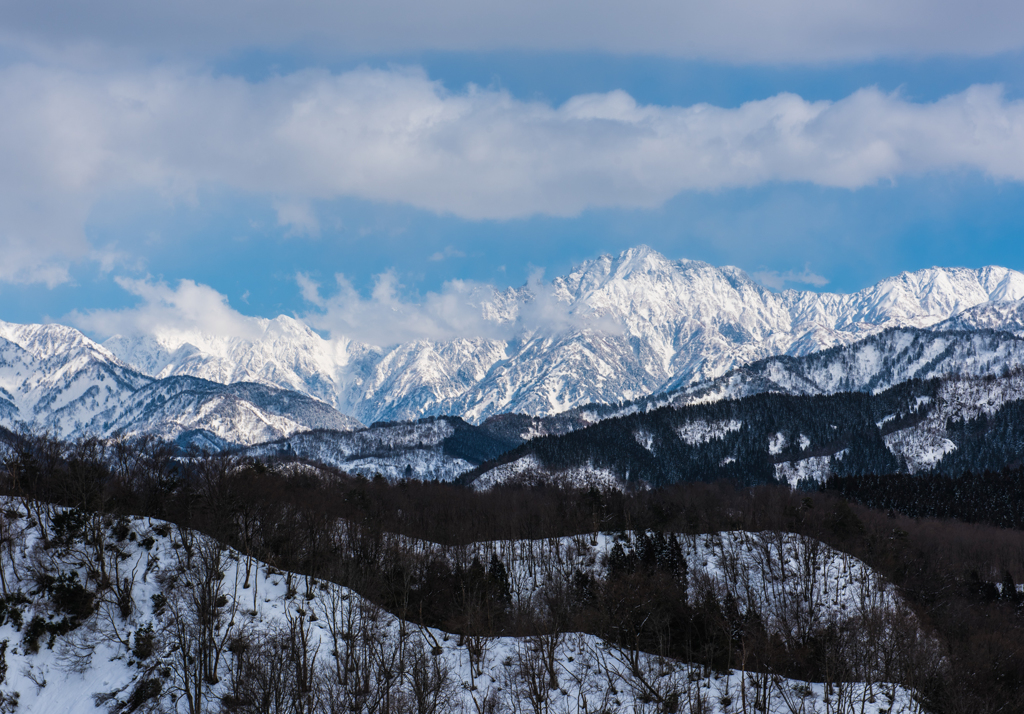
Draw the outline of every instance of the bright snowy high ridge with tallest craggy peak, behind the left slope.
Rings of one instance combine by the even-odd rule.
[[[479,422],[633,401],[770,355],[848,345],[890,327],[931,328],[972,308],[980,316],[990,303],[1004,307],[985,308],[972,328],[1017,325],[1022,297],[1024,275],[1001,267],[904,272],[849,295],[776,293],[738,268],[672,261],[640,246],[550,285],[480,300],[505,339],[378,346],[325,339],[280,317],[254,320],[245,337],[158,331],[104,345],[146,374],[296,389],[366,423],[440,414]]]

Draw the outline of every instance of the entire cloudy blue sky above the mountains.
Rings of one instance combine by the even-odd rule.
[[[416,303],[640,243],[843,292],[1024,269],[1010,3],[926,22],[914,2],[851,17],[799,0],[743,24],[599,2],[579,29],[575,0],[564,17],[449,0],[335,31],[318,0],[241,24],[240,0],[124,2],[78,23],[52,19],[78,3],[5,3],[0,320],[131,310],[152,299],[131,286],[182,280],[245,314],[304,314],[298,276],[330,293],[338,274],[367,299],[388,274]],[[652,30],[684,19],[678,40]]]

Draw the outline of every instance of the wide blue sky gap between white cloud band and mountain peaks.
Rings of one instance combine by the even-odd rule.
[[[931,265],[1024,269],[1024,186],[976,174],[904,179],[857,192],[811,185],[689,193],[656,210],[588,211],[575,218],[469,221],[358,200],[316,203],[316,237],[288,237],[275,201],[218,191],[168,203],[146,193],[109,197],[88,222],[90,242],[124,254],[101,274],[75,265],[73,284],[0,287],[0,320],[38,322],[73,309],[117,308],[136,299],[116,276],[153,276],[170,285],[206,284],[239,311],[274,317],[310,305],[295,281],[303,272],[333,292],[344,274],[364,295],[394,270],[403,299],[445,281],[523,285],[542,267],[551,279],[601,253],[647,244],[669,258],[734,264],[750,274],[825,277],[849,292],[901,270]],[[434,258],[434,259],[431,259]]]

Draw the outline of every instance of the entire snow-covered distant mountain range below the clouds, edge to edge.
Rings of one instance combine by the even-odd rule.
[[[904,272],[849,295],[773,292],[738,268],[641,246],[537,290],[478,301],[504,339],[370,345],[282,316],[259,321],[254,338],[156,326],[97,344],[60,325],[0,323],[0,423],[224,448],[441,415],[468,428],[520,413],[511,430],[501,422],[513,445],[669,404],[878,391],[1024,363],[1024,274],[1001,267]],[[556,314],[539,319],[544,310]]]

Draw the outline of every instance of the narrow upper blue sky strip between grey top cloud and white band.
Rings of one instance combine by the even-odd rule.
[[[309,67],[340,73],[358,67],[422,67],[452,91],[469,84],[501,88],[513,96],[560,104],[592,92],[623,89],[640,103],[737,107],[780,92],[808,100],[841,99],[863,87],[900,90],[913,101],[934,101],[973,84],[1002,84],[1024,96],[1024,52],[991,57],[880,59],[816,66],[728,65],[659,56],[599,52],[419,52],[384,56],[324,57],[302,51],[250,51],[222,59],[218,73],[259,81]]]

